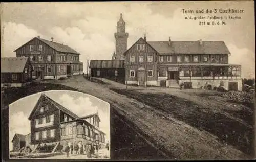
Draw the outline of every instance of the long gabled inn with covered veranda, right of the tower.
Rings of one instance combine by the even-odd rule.
[[[229,64],[224,41],[136,41],[125,53],[125,83],[241,90],[241,65]]]

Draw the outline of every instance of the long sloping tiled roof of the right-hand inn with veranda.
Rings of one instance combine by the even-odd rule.
[[[148,41],[159,54],[230,54],[224,41]]]

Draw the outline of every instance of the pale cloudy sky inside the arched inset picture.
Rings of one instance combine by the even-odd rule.
[[[36,102],[44,93],[60,105],[69,109],[79,117],[98,112],[101,122],[99,128],[106,133],[106,141],[110,141],[110,104],[81,92],[69,90],[49,90],[39,92],[10,104],[10,130],[9,146],[12,150],[12,139],[15,133],[27,135],[30,133],[30,121],[28,117]]]

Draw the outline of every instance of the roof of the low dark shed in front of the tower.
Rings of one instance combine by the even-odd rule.
[[[123,60],[91,60],[90,68],[124,68]]]

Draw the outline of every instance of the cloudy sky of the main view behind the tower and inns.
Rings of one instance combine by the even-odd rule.
[[[111,59],[115,51],[116,24],[120,13],[131,47],[146,33],[147,41],[222,40],[231,56],[229,63],[242,65],[242,77],[255,77],[253,1],[207,2],[37,2],[2,3],[1,57],[33,37],[69,45],[78,51],[84,72],[87,60]],[[183,14],[185,10],[243,9],[244,13]],[[241,16],[226,25],[199,25],[185,16]],[[211,20],[207,20],[211,22]]]

